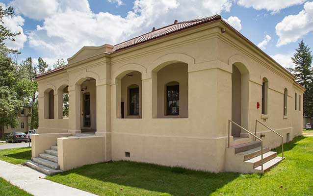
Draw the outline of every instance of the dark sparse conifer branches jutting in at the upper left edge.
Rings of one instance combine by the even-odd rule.
[[[14,16],[13,7],[8,7],[4,9],[0,5],[0,54],[1,55],[7,55],[8,53],[20,53],[16,49],[8,49],[5,46],[4,41],[5,40],[11,40],[15,41],[14,36],[21,34],[21,32],[18,33],[12,33],[11,30],[4,27],[3,24],[3,17],[12,17]]]

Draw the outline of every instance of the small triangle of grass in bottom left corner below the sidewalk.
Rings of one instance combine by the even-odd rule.
[[[0,177],[0,196],[31,196]]]

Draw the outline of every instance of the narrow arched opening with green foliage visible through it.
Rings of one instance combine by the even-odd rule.
[[[66,119],[69,117],[69,91],[68,85],[62,85],[57,90],[58,98],[58,119]]]

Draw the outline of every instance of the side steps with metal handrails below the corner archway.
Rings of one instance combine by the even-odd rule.
[[[225,172],[265,172],[281,162],[277,152],[263,147],[263,171],[261,170],[261,142],[254,141],[226,148]]]

